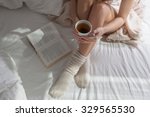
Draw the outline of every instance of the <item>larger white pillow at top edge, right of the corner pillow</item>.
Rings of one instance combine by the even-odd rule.
[[[64,0],[23,0],[26,5],[36,12],[59,16]]]

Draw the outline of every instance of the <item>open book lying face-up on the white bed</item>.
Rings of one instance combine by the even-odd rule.
[[[28,34],[27,38],[47,67],[72,51],[52,22]]]

